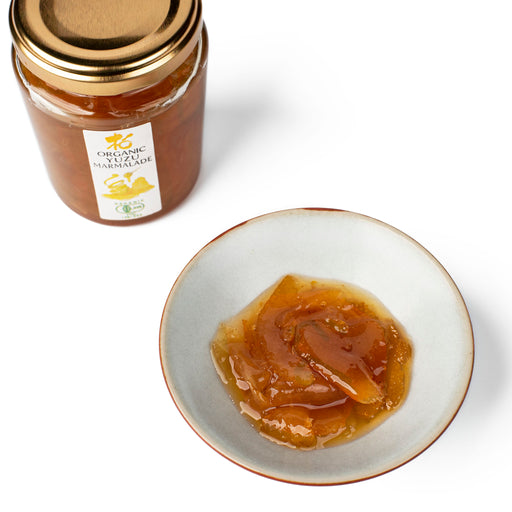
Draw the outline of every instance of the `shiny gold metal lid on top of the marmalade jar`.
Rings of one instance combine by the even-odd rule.
[[[156,83],[184,62],[201,0],[12,0],[16,53],[59,89],[109,96]]]

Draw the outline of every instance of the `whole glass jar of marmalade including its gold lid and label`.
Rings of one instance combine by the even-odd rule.
[[[13,67],[62,201],[103,224],[175,208],[200,168],[201,0],[13,0]]]

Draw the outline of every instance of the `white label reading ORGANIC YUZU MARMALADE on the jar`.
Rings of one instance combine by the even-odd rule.
[[[100,217],[131,220],[162,209],[151,123],[84,130]]]

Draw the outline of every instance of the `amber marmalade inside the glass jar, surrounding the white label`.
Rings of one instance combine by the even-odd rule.
[[[14,69],[23,92],[50,180],[59,197],[73,211],[102,224],[144,222],[177,207],[199,175],[203,137],[208,38],[200,42],[169,76],[151,86],[115,96],[94,96],[59,90],[29,71],[14,55]],[[101,217],[88,160],[84,130],[115,135],[123,129],[151,123],[161,209],[150,216],[111,220]],[[105,139],[106,140],[106,139]],[[114,141],[115,142],[115,141]],[[121,146],[121,149],[122,146]],[[112,154],[115,165],[132,158],[127,151]],[[128,183],[126,171],[113,169],[111,178]],[[105,183],[107,185],[107,183]],[[107,197],[107,196],[105,196]],[[111,198],[126,200],[126,195]]]

